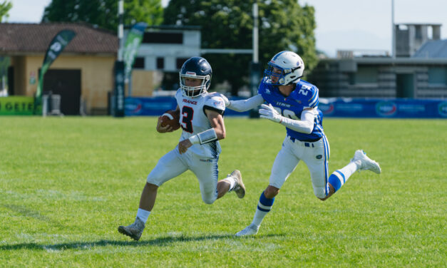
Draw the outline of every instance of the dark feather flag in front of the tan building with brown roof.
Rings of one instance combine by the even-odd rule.
[[[74,31],[59,31],[48,46],[45,58],[43,58],[41,73],[38,76],[36,99],[34,103],[35,109],[37,107],[40,107],[42,104],[43,76],[45,75],[46,71],[48,71],[48,68],[50,68],[51,63],[56,60],[59,54],[63,51],[63,48],[65,48],[68,43],[70,43],[74,36],[76,36],[76,33]]]

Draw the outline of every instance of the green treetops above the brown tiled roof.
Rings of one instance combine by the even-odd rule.
[[[43,11],[43,22],[65,21],[118,29],[118,0],[52,0]],[[159,25],[163,21],[161,0],[125,0],[123,21],[125,25],[143,21]]]

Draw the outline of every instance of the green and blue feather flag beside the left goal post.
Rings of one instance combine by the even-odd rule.
[[[127,38],[125,39],[124,45],[124,63],[125,63],[125,82],[128,83],[130,79],[130,72],[132,72],[133,62],[135,61],[135,56],[140,47],[140,43],[143,40],[143,33],[148,24],[144,22],[138,22],[138,24],[133,24],[130,29]]]

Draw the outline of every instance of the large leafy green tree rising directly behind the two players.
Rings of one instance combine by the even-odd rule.
[[[307,71],[317,65],[313,6],[297,0],[258,0],[260,63],[265,66],[279,51],[302,56]],[[163,24],[201,26],[202,48],[252,48],[252,4],[247,0],[170,0]],[[247,54],[204,55],[213,68],[214,85],[228,81],[232,94],[247,85]]]

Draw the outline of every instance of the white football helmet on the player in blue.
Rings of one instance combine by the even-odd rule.
[[[302,58],[292,51],[281,51],[273,56],[268,63],[268,67],[264,71],[264,83],[275,86],[298,83],[303,73],[304,62]],[[278,78],[276,82],[272,81],[272,76]]]

